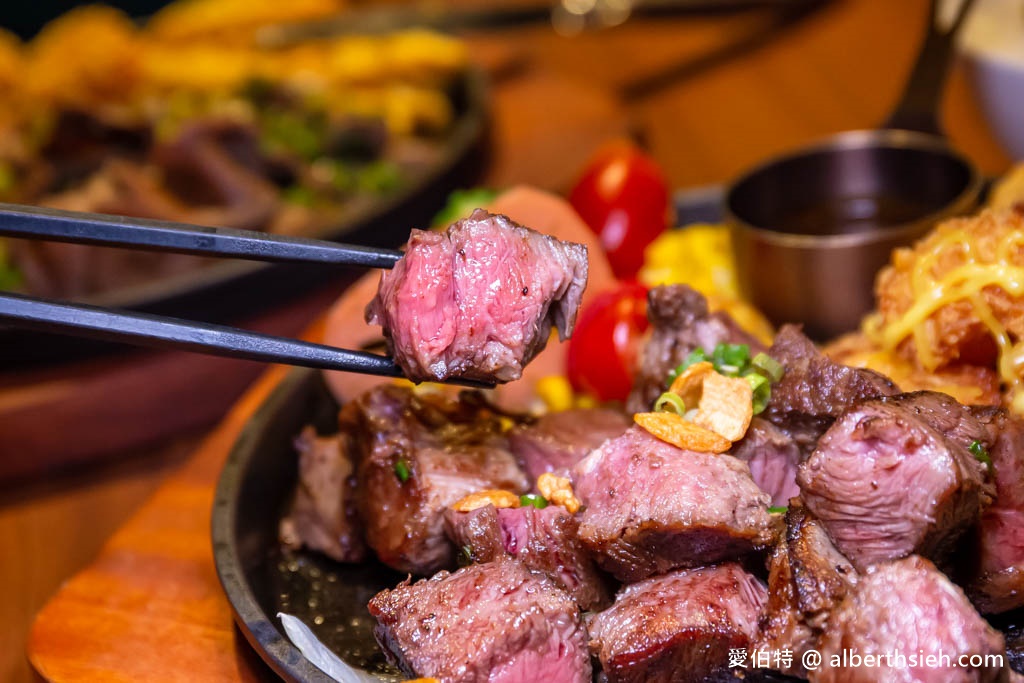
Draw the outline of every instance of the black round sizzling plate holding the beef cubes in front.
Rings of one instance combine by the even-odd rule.
[[[721,196],[719,187],[677,194],[678,222],[717,221]],[[293,440],[308,424],[336,431],[338,404],[318,372],[295,370],[250,418],[221,472],[212,520],[217,573],[239,628],[285,680],[332,679],[285,637],[280,611],[300,617],[349,664],[400,680],[374,640],[367,602],[404,575],[377,562],[349,566],[315,553],[286,554],[278,542],[298,475]]]

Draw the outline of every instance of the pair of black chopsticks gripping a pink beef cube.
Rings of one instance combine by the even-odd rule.
[[[0,237],[129,247],[259,261],[321,263],[390,268],[401,252],[342,245],[249,230],[203,227],[169,221],[124,218],[0,204]],[[402,377],[393,359],[219,325],[150,315],[80,303],[0,294],[0,323],[165,349],[201,351],[249,360]],[[486,388],[473,381],[453,384]]]

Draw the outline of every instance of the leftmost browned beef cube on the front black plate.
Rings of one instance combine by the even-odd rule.
[[[367,555],[355,510],[355,467],[348,434],[317,436],[306,427],[295,439],[299,483],[279,535],[292,549],[309,548],[339,562],[361,562]]]

